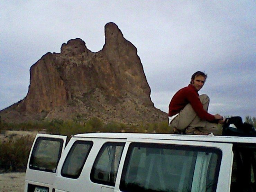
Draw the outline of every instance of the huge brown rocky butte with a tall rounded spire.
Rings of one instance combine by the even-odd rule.
[[[0,115],[4,120],[35,118],[124,123],[167,119],[150,99],[150,88],[137,49],[112,22],[105,26],[105,44],[91,52],[82,39],[62,44],[61,53],[47,53],[30,68],[27,96]],[[4,115],[5,114],[5,115]]]

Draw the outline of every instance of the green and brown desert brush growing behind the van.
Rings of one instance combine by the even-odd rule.
[[[256,126],[255,117],[246,117],[248,122]],[[109,122],[104,124],[99,118],[91,118],[88,121],[81,121],[76,118],[73,121],[63,121],[54,119],[52,121],[26,122],[21,124],[11,124],[0,121],[0,133],[7,130],[27,130],[45,132],[47,134],[66,135],[70,139],[71,135],[85,132],[137,132],[137,133],[169,133],[170,128],[166,122],[143,123],[138,125],[126,125],[119,122]],[[22,136],[13,137],[0,141],[0,172],[25,171],[28,155],[34,137]]]

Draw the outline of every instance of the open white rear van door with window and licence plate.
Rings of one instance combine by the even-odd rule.
[[[55,172],[66,136],[37,134],[31,147],[24,192],[52,192]]]

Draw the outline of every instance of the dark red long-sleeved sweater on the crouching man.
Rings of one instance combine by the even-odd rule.
[[[203,120],[214,121],[213,115],[203,109],[203,105],[199,99],[199,94],[193,85],[184,87],[177,91],[169,104],[169,116],[179,113],[187,104],[191,104],[196,114]]]

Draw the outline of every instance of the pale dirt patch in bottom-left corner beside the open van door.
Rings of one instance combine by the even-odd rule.
[[[1,192],[24,191],[25,173],[3,173],[0,174]]]

